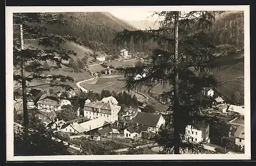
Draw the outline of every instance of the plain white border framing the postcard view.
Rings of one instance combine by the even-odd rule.
[[[196,155],[84,155],[84,156],[13,156],[13,26],[12,13],[22,12],[108,12],[115,8],[145,11],[244,11],[244,77],[245,77],[245,154]],[[90,6],[90,7],[6,7],[6,149],[7,161],[35,160],[205,160],[250,159],[250,39],[249,6]]]

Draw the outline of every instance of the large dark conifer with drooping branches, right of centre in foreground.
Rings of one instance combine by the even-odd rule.
[[[126,67],[125,87],[128,90],[150,88],[160,83],[172,85],[162,98],[172,99],[167,109],[166,125],[156,138],[163,153],[203,153],[203,143],[189,141],[185,133],[187,125],[198,126],[208,122],[200,114],[199,94],[204,87],[215,86],[217,81],[210,74],[218,66],[216,48],[209,42],[208,29],[215,21],[214,11],[191,11],[188,13],[156,12],[163,18],[158,30],[128,31],[116,33],[115,41],[155,41],[159,48],[153,51],[153,61],[142,66]],[[173,34],[174,33],[174,34]],[[137,74],[147,70],[147,76],[134,80]]]

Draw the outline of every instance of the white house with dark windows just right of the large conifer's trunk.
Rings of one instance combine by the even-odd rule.
[[[210,143],[209,137],[209,125],[202,123],[200,127],[194,127],[188,125],[185,129],[186,139],[189,139],[192,142],[199,143],[201,141],[205,143]]]

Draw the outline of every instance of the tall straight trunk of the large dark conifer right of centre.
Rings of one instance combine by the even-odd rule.
[[[175,42],[174,42],[174,63],[177,64],[178,61],[178,30],[179,30],[179,12],[177,11],[175,15],[175,20],[174,20],[174,26],[175,26]],[[180,124],[179,124],[179,76],[178,76],[178,71],[177,71],[177,66],[174,67],[174,73],[175,73],[175,78],[174,78],[174,115],[173,115],[173,123],[174,123],[174,154],[180,154]]]

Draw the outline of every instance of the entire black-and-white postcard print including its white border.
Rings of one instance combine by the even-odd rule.
[[[6,43],[7,160],[250,159],[249,6],[6,7]]]

